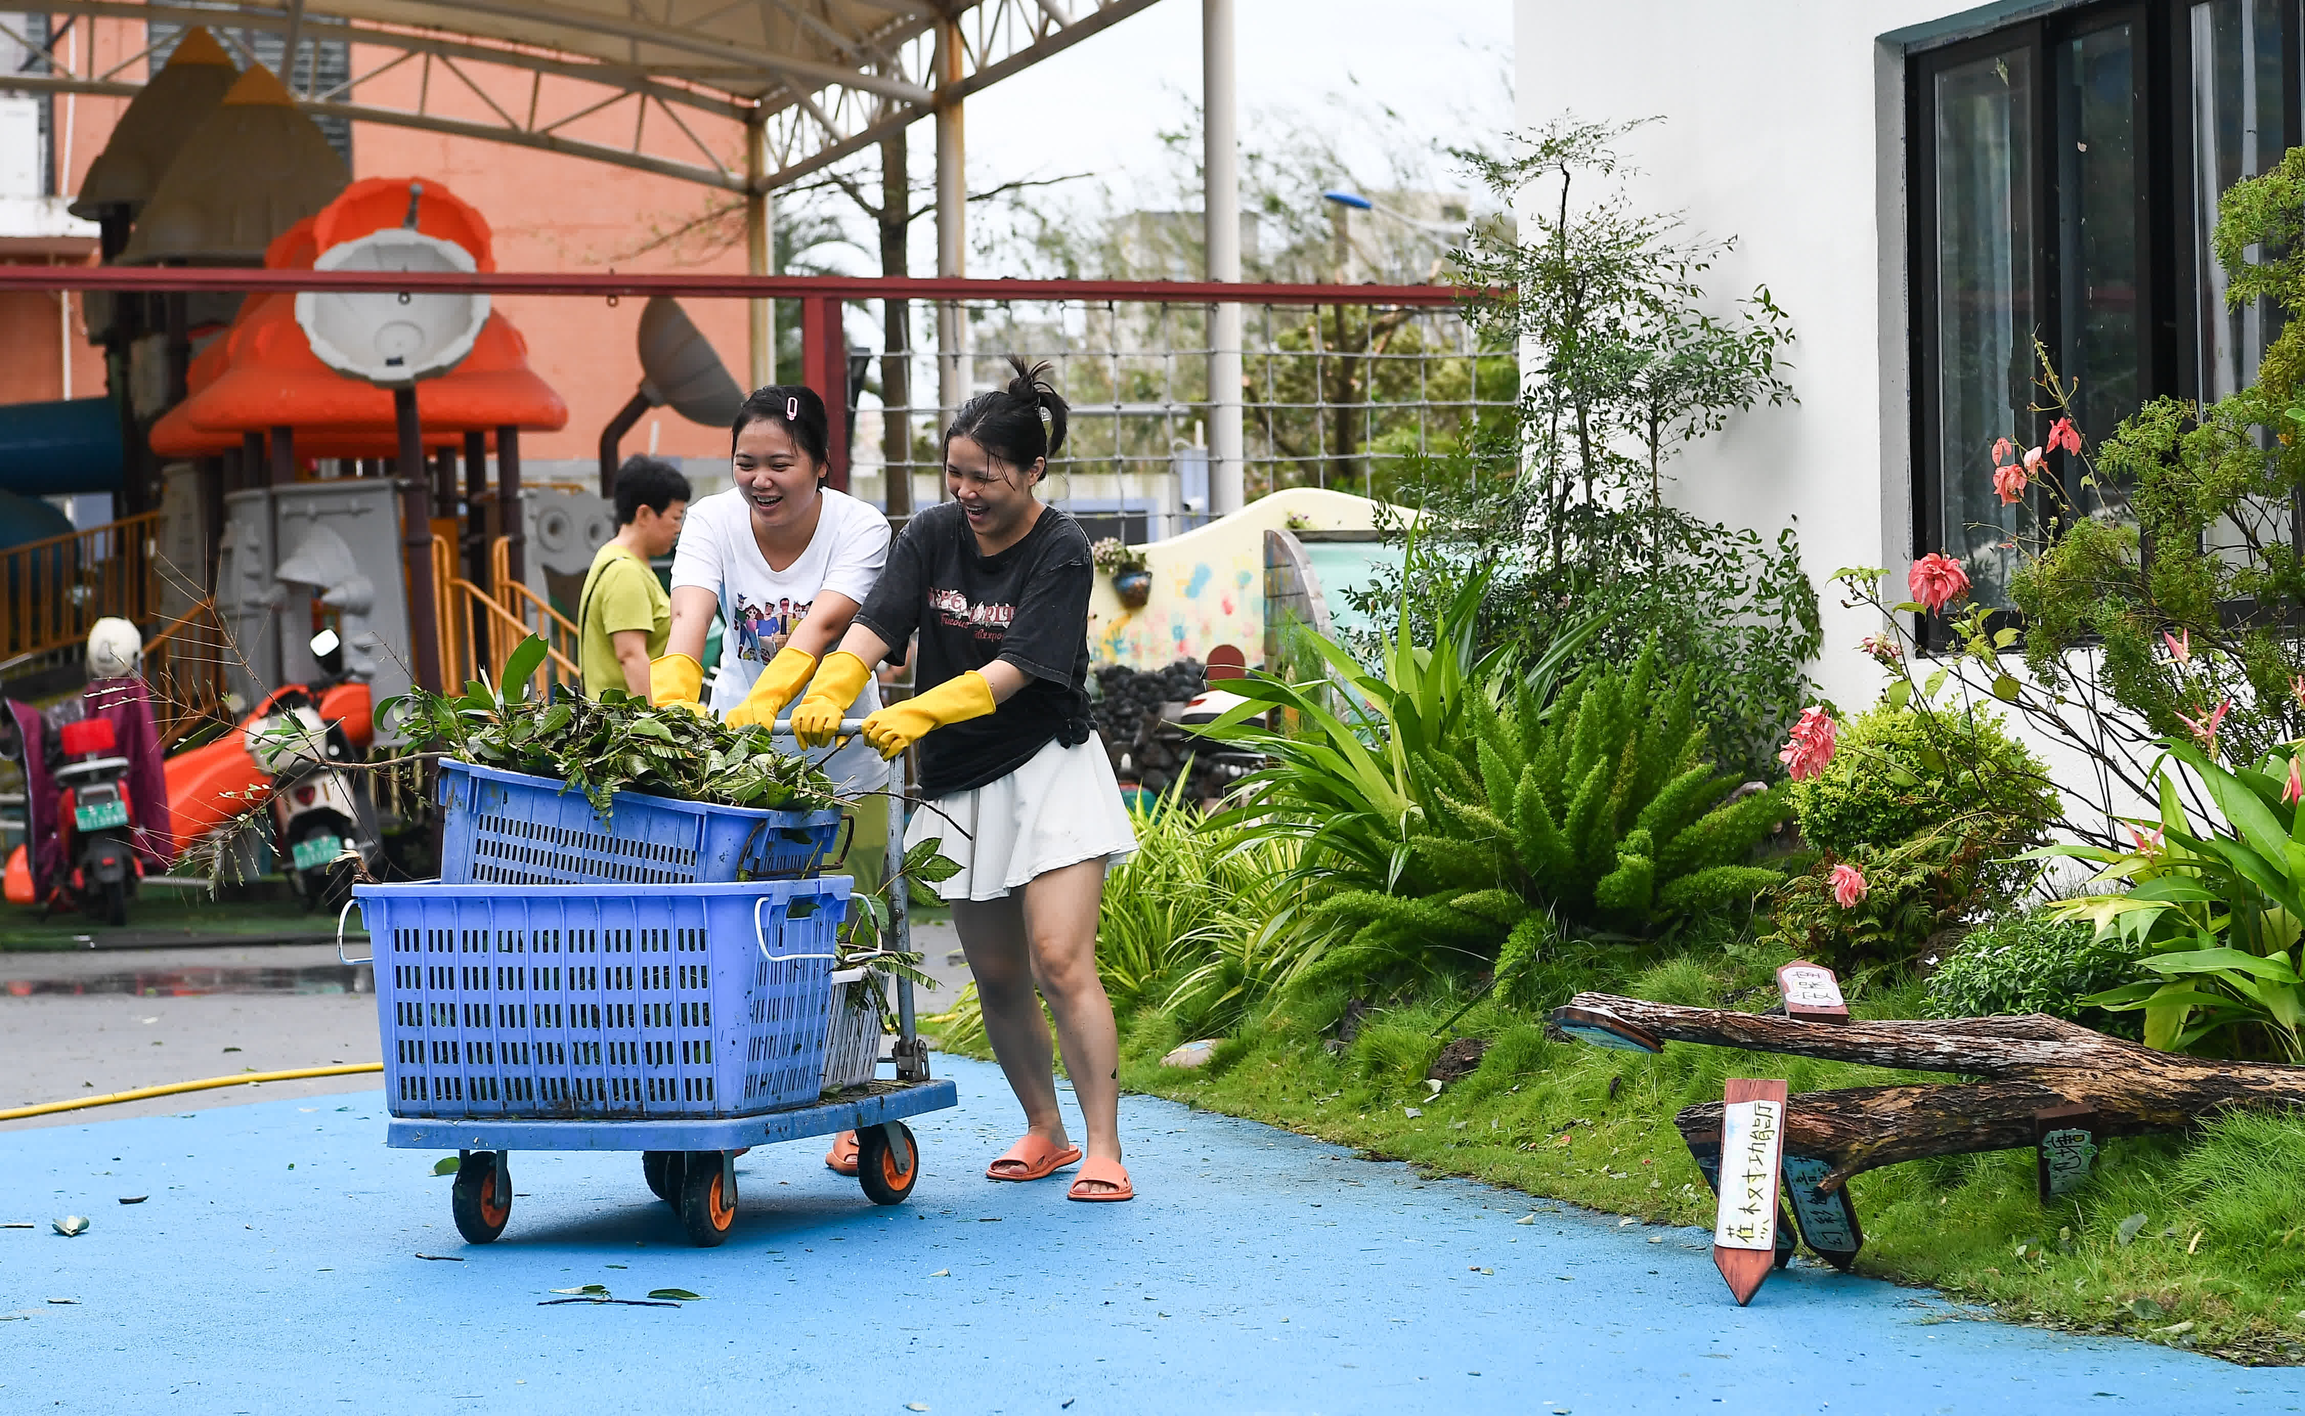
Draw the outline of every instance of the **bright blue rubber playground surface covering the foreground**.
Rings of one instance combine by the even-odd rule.
[[[869,1204],[821,1142],[770,1147],[717,1250],[618,1154],[514,1154],[512,1223],[470,1248],[438,1156],[380,1144],[380,1094],[5,1133],[0,1220],[39,1227],[0,1230],[0,1411],[2305,1409],[2305,1370],[1807,1264],[1740,1310],[1703,1232],[1148,1098],[1123,1103],[1141,1197],[1070,1204],[982,1179],[1014,1103],[989,1066],[938,1068],[961,1105],[915,1119],[913,1204]],[[583,1285],[703,1299],[556,1303]]]

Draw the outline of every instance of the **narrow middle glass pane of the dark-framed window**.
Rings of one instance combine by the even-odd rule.
[[[2091,30],[2056,46],[2056,233],[2063,327],[2056,371],[2079,382],[2074,405],[2088,437],[2111,433],[2144,403],[2137,64],[2128,23]],[[2084,511],[2125,507],[2118,488],[2068,486],[2065,490]]]

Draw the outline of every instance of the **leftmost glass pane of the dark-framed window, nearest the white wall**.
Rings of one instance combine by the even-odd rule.
[[[2033,387],[2033,71],[2010,48],[1936,74],[1936,444],[1948,555],[2005,606],[2019,507],[1992,488],[1992,444],[2024,428]]]

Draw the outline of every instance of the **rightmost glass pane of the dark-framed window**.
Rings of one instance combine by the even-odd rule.
[[[2192,249],[2204,403],[2257,378],[2257,359],[2280,332],[2266,304],[2224,304],[2224,269],[2213,235],[2224,189],[2282,159],[2287,12],[2280,0],[2192,7]],[[2257,258],[2254,246],[2250,258]]]

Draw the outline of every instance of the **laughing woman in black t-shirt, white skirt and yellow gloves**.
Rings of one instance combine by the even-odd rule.
[[[963,403],[945,431],[952,500],[890,546],[871,599],[793,709],[793,734],[830,741],[871,665],[920,633],[915,695],[864,718],[864,741],[885,758],[920,741],[929,806],[904,845],[940,838],[961,863],[936,891],[952,905],[984,1036],[1028,1124],[984,1174],[1030,1181],[1081,1160],[1056,1105],[1037,983],[1088,1126],[1070,1197],[1132,1200],[1097,907],[1104,868],[1136,850],[1136,833],[1088,723],[1088,536],[1033,495],[1065,442],[1065,401],[1046,364],[1010,364],[1017,378]]]

